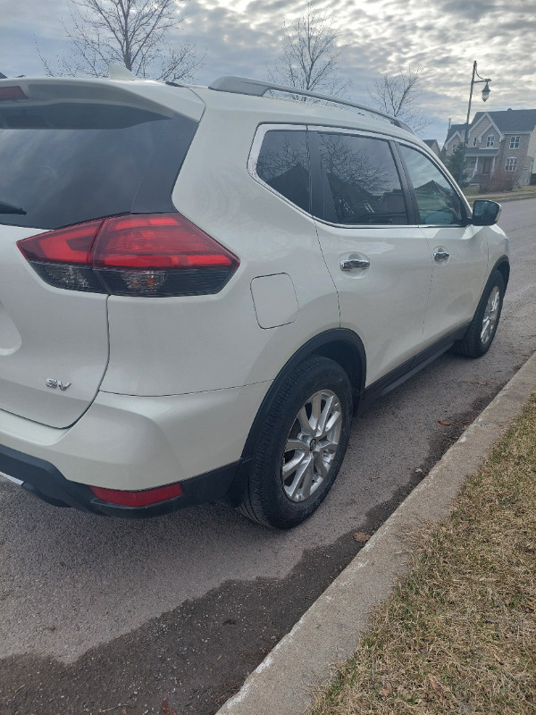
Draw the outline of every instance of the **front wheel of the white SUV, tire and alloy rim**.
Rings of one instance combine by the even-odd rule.
[[[453,352],[466,357],[482,357],[488,352],[497,332],[504,295],[505,280],[500,271],[495,271],[482,293],[469,330],[463,340],[452,346]]]

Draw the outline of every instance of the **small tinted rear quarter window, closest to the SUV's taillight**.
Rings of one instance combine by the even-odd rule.
[[[267,131],[256,172],[272,189],[310,212],[309,155],[305,131]]]

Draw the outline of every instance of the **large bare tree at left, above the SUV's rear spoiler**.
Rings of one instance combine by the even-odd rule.
[[[108,63],[118,63],[139,77],[191,80],[203,63],[191,43],[172,46],[167,41],[183,21],[177,0],[69,0],[69,10],[71,23],[64,28],[71,56],[59,58],[53,69],[38,47],[49,75],[103,77]]]

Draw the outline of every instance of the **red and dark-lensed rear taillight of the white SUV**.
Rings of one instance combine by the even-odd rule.
[[[123,296],[217,293],[239,259],[180,214],[129,214],[46,231],[17,244],[56,288]]]

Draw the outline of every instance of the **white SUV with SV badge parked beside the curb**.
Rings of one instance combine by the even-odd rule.
[[[401,122],[270,90],[0,80],[4,476],[98,514],[222,500],[295,526],[358,408],[490,347],[498,204],[472,212]]]

